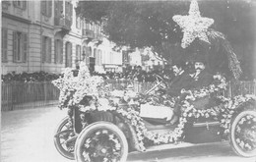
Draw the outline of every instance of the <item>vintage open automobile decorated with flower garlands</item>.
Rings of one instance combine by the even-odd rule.
[[[90,95],[90,90],[79,92],[78,89],[99,87],[102,82],[76,84],[74,82],[94,82],[96,79],[83,77],[86,74],[83,70],[78,77],[72,76],[71,71],[66,74],[55,82],[62,92],[60,104],[68,108],[68,116],[57,126],[54,144],[68,159],[123,162],[129,152],[147,151],[152,145],[222,140],[229,140],[237,155],[256,156],[256,97],[224,97],[220,91],[226,83],[221,75],[216,75],[216,83],[208,87],[183,90],[186,97],[178,103],[181,117],[175,125],[168,125],[175,100],[164,94],[156,95],[157,87],[167,86],[159,76],[146,94],[126,88],[108,91],[108,95],[98,95],[100,92],[91,90]],[[66,87],[68,82],[70,86]],[[157,115],[159,112],[164,113]]]

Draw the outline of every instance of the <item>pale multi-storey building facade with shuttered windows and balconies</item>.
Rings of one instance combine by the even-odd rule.
[[[76,5],[76,0],[2,1],[2,74],[60,73],[81,61],[104,71],[114,51],[104,45],[100,25],[76,16]],[[110,64],[122,65],[118,54]]]

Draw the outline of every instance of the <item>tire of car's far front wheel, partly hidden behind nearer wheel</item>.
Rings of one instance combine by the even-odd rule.
[[[65,117],[64,119],[62,119],[62,121],[58,124],[58,127],[57,129],[55,130],[54,132],[54,135],[58,134],[61,129],[69,122],[69,117]],[[72,130],[73,131],[73,130]],[[56,149],[58,150],[58,152],[64,156],[65,158],[67,159],[70,159],[70,160],[75,160],[75,156],[74,156],[74,153],[70,153],[68,151],[66,151],[62,145],[60,144],[60,141],[58,139],[58,137],[54,136],[53,137],[53,140],[54,140],[54,145],[56,147]]]

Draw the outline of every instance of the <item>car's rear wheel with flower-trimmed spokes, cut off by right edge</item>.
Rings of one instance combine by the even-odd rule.
[[[244,110],[231,122],[229,141],[237,155],[256,156],[256,111]]]

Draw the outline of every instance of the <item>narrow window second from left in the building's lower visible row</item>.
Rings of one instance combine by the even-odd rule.
[[[51,38],[42,36],[42,57],[43,63],[51,63]]]

